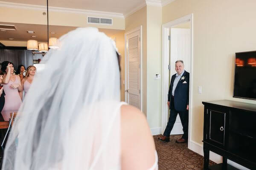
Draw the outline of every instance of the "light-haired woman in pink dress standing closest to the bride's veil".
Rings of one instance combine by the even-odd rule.
[[[29,88],[30,88],[30,85],[34,79],[34,76],[35,76],[35,71],[36,71],[36,68],[35,66],[33,65],[30,65],[28,68],[27,68],[27,72],[26,72],[26,76],[21,80],[21,85],[23,87],[23,90],[25,91],[25,95],[27,94]]]

